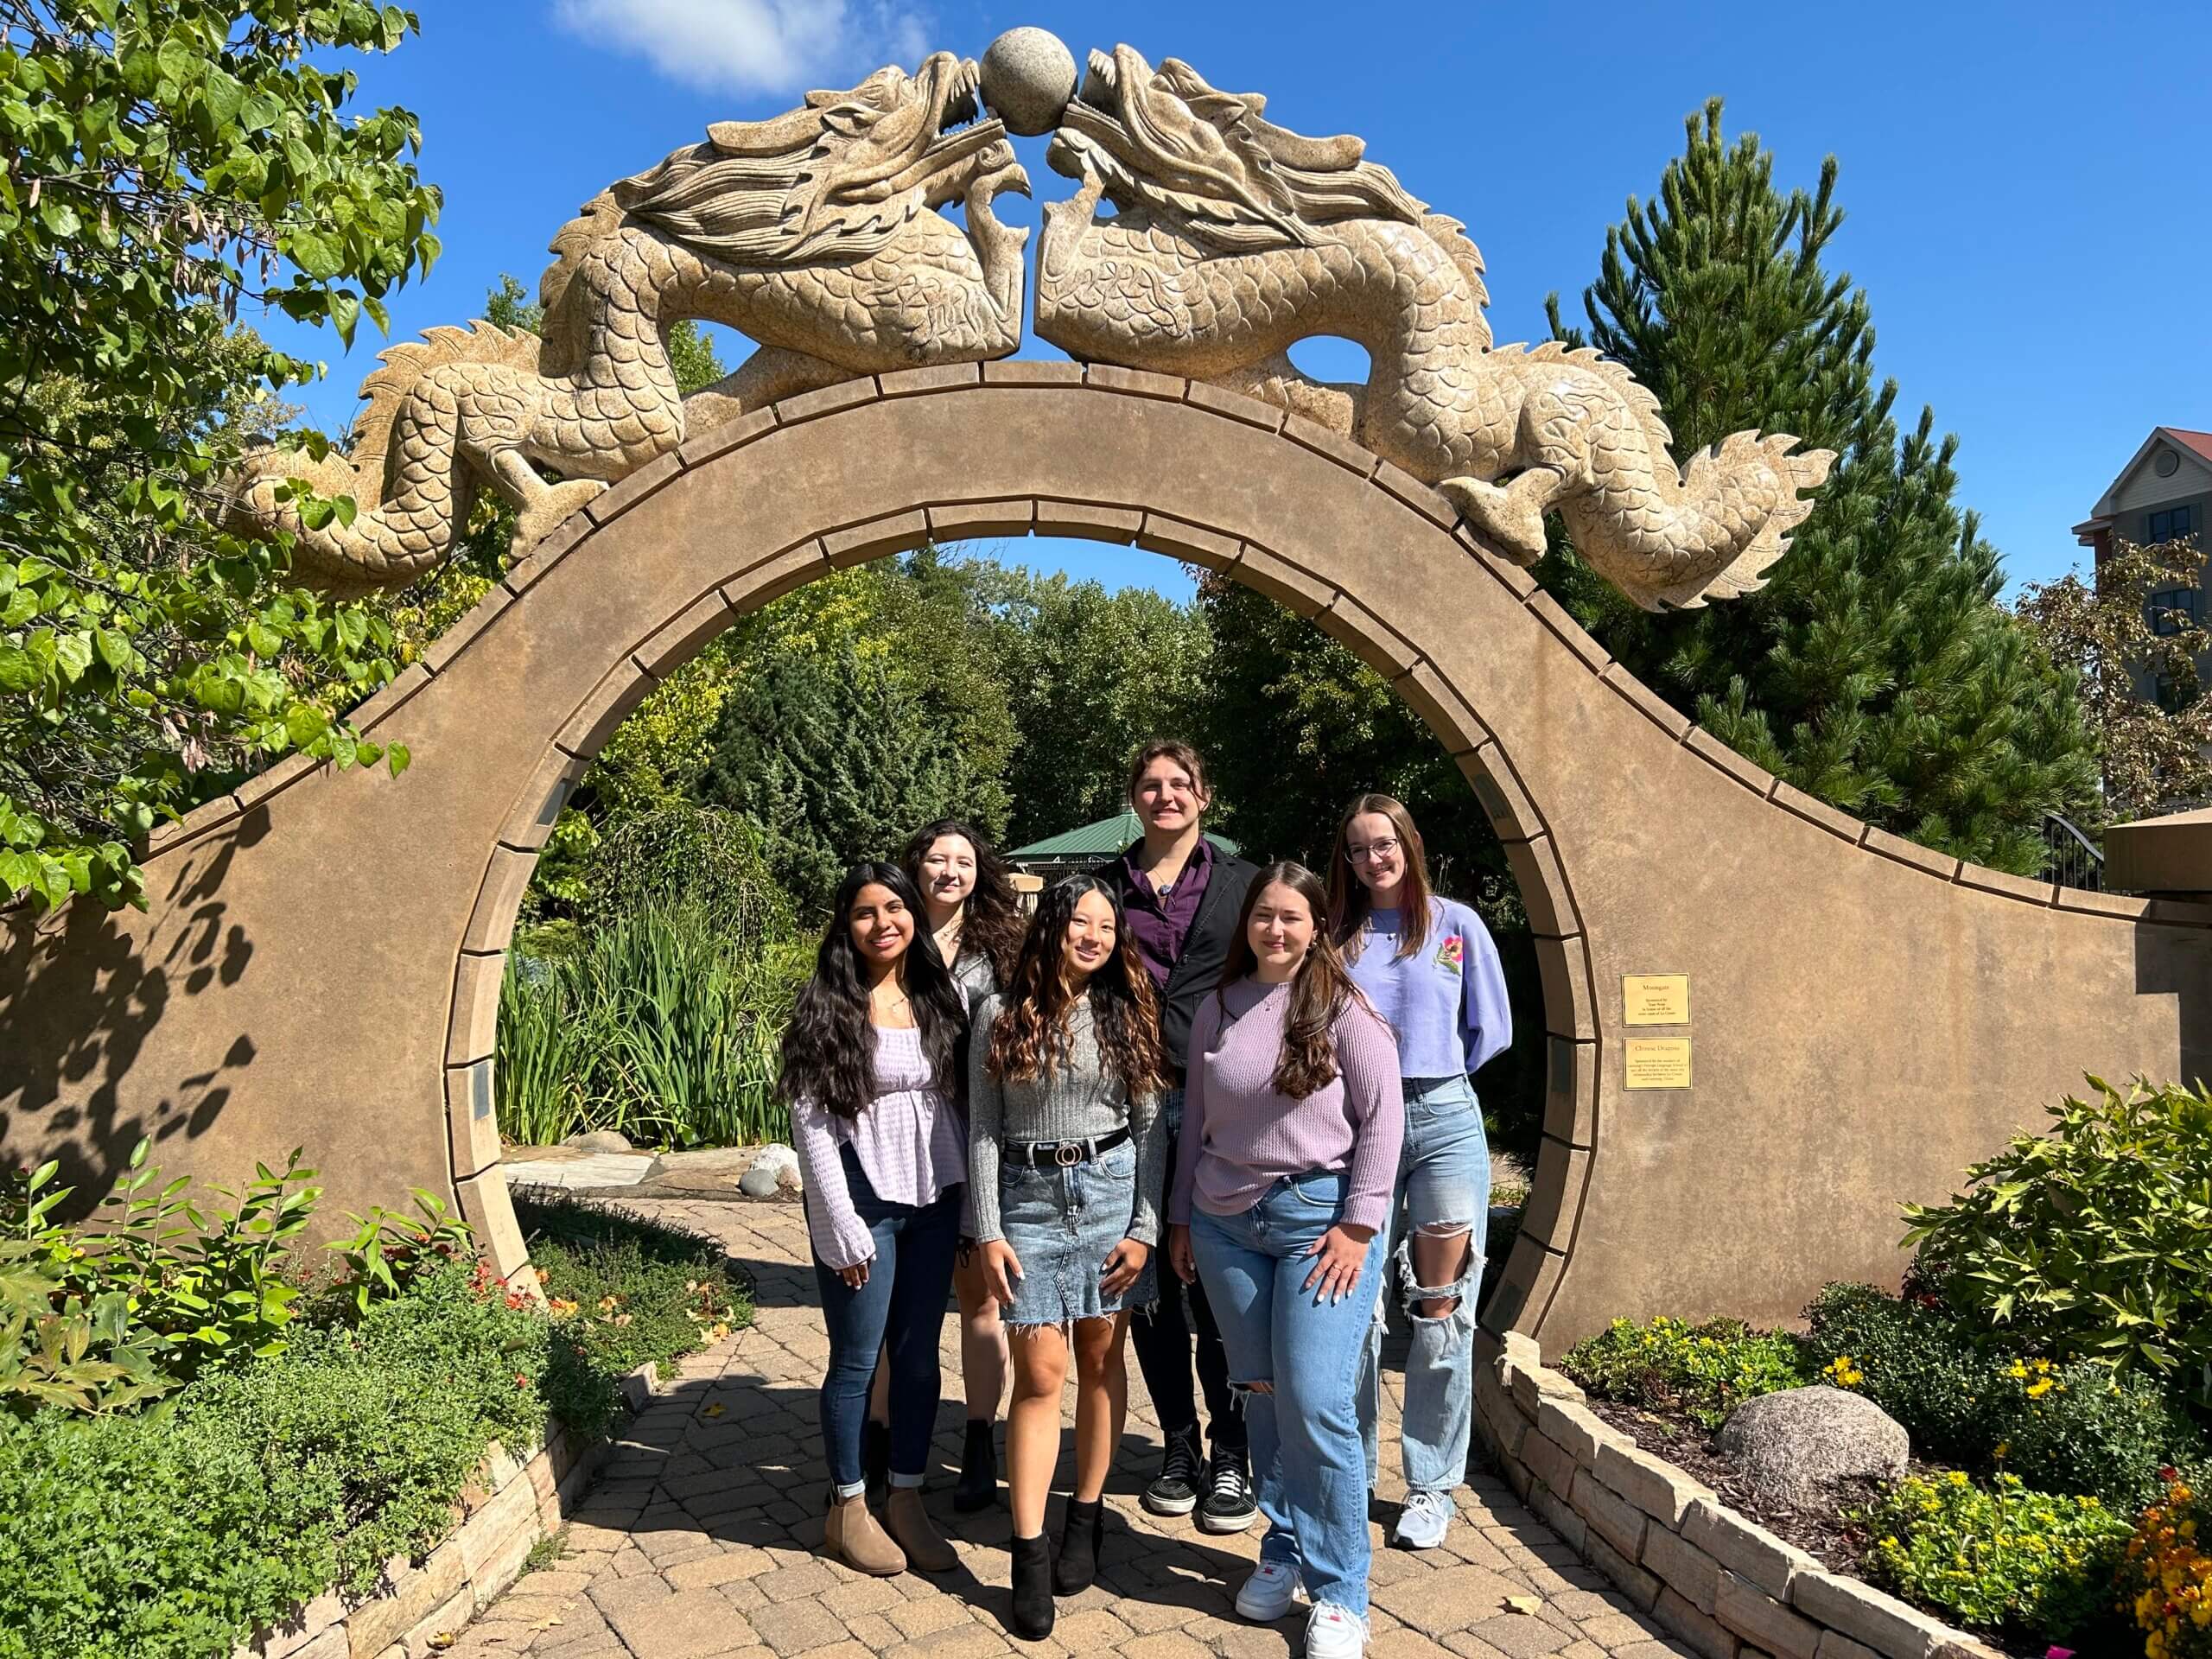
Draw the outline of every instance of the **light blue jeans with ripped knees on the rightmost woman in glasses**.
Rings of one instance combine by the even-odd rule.
[[[1405,1484],[1411,1491],[1451,1491],[1467,1480],[1469,1433],[1475,1422],[1475,1285],[1482,1283],[1482,1245],[1491,1221],[1491,1144],[1482,1106],[1467,1077],[1405,1079],[1405,1150],[1398,1155],[1398,1201],[1391,1206],[1389,1259],[1400,1276],[1413,1345],[1405,1356]],[[1453,1285],[1422,1285],[1413,1276],[1413,1232],[1467,1232],[1467,1272]],[[1420,1303],[1455,1298],[1442,1318]],[[1387,1301],[1376,1296],[1376,1321],[1360,1378],[1360,1440],[1367,1444],[1367,1484],[1376,1480],[1376,1418],[1383,1409],[1383,1321]]]

